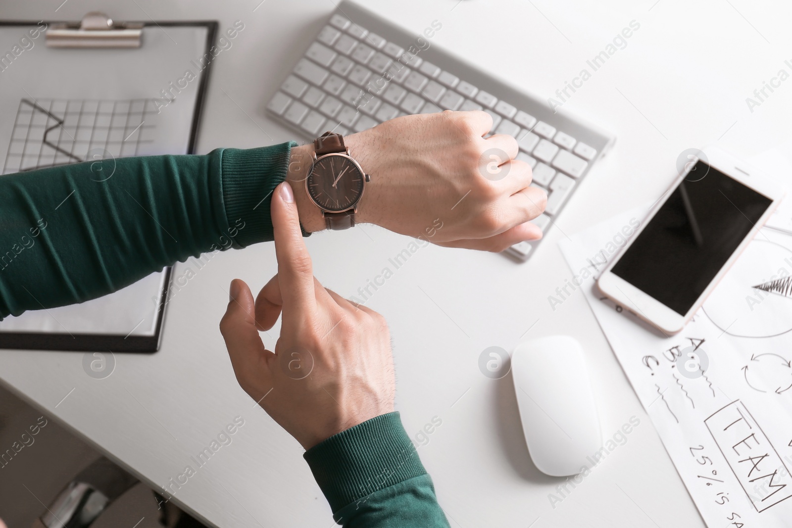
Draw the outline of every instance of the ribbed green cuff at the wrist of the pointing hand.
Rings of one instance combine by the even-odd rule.
[[[333,435],[303,457],[333,513],[380,489],[426,474],[398,412]]]

